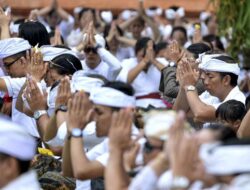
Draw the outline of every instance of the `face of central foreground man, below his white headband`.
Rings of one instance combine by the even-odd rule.
[[[96,136],[108,136],[113,113],[112,108],[107,106],[95,105],[94,113],[94,120],[96,122]]]

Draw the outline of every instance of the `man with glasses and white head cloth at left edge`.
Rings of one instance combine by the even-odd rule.
[[[0,59],[3,60],[4,68],[9,75],[0,78],[0,91],[7,92],[13,98],[12,120],[24,126],[30,135],[39,137],[35,121],[15,108],[18,93],[26,81],[26,51],[30,49],[29,42],[22,38],[0,41]]]

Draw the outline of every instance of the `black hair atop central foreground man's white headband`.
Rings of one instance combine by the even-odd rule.
[[[109,88],[119,90],[128,96],[134,95],[133,87],[130,84],[127,84],[121,81],[107,82],[106,84],[103,85],[103,87],[109,87]]]

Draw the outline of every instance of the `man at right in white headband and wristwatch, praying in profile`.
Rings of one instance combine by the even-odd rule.
[[[187,62],[180,66],[180,84],[182,86],[175,101],[175,109],[188,111],[190,108],[194,119],[199,122],[215,121],[215,110],[231,99],[245,104],[245,96],[237,86],[240,68],[229,56],[206,59],[199,65],[201,79],[206,91],[200,96],[195,88],[194,72]]]

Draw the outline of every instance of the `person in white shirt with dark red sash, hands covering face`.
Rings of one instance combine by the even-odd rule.
[[[123,61],[117,80],[133,86],[137,107],[148,108],[151,105],[165,108],[159,94],[159,85],[161,70],[168,62],[165,59],[155,59],[153,46],[150,38],[139,39],[135,46],[136,57]]]

